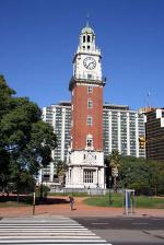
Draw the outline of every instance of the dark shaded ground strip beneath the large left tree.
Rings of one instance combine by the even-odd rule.
[[[66,198],[56,197],[36,197],[35,205],[65,205],[69,203]],[[12,206],[31,206],[33,205],[33,196],[31,195],[11,195],[11,196],[0,196],[0,207],[12,207]]]

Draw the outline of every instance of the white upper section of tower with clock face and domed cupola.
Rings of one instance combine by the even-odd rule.
[[[102,55],[95,45],[95,32],[86,23],[80,34],[78,50],[73,58],[73,78],[102,83]],[[74,81],[74,80],[73,80]],[[72,81],[70,82],[72,86]]]

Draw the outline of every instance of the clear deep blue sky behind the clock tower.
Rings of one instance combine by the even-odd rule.
[[[107,77],[104,103],[163,107],[163,0],[0,0],[0,73],[8,84],[39,107],[69,101],[87,12]]]

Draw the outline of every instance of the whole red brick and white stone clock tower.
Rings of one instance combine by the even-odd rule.
[[[105,188],[103,152],[102,55],[95,33],[86,24],[73,58],[71,91],[71,143],[67,188]]]

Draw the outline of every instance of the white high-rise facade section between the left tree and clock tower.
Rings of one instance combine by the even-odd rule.
[[[54,162],[47,167],[42,168],[39,173],[39,183],[54,183],[56,179],[56,164],[59,161],[66,161],[68,147],[70,145],[71,129],[71,104],[62,102],[59,105],[50,105],[43,108],[43,120],[54,127],[58,139],[58,147],[51,151]]]

